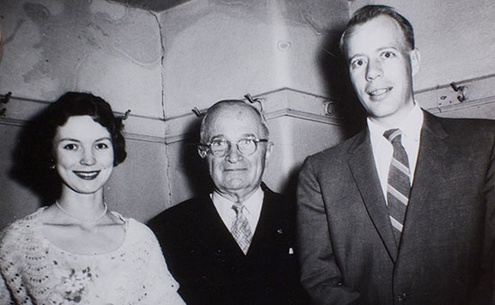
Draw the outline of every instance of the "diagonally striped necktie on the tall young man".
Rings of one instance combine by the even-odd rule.
[[[393,156],[389,169],[387,204],[395,242],[401,241],[404,217],[410,198],[410,166],[406,150],[401,144],[401,130],[386,130],[383,137],[392,143]]]

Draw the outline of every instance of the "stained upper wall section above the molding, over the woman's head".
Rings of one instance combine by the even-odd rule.
[[[3,0],[0,89],[51,101],[91,91],[116,110],[163,117],[156,16],[104,0]]]

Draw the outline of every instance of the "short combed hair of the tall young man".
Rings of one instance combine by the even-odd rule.
[[[401,27],[404,38],[406,39],[406,44],[410,49],[415,48],[414,43],[414,31],[409,20],[407,20],[401,13],[398,13],[392,6],[387,5],[365,5],[358,9],[349,22],[347,22],[346,30],[342,33],[340,37],[339,48],[341,53],[346,56],[346,44],[345,40],[347,36],[352,34],[352,30],[356,25],[364,24],[378,16],[389,16]]]

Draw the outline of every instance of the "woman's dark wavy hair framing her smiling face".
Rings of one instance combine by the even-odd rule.
[[[127,157],[122,120],[113,115],[109,103],[93,94],[63,94],[24,125],[14,150],[11,175],[38,193],[45,204],[57,200],[61,190],[57,171],[51,169],[56,160],[53,139],[58,127],[68,118],[79,115],[89,115],[108,130],[112,138],[113,166],[118,166]]]

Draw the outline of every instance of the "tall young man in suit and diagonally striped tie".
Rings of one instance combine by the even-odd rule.
[[[319,304],[492,304],[495,124],[419,107],[410,22],[356,11],[341,39],[367,128],[308,157],[302,283]]]

